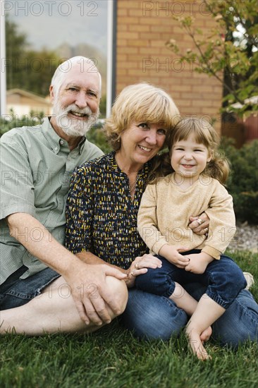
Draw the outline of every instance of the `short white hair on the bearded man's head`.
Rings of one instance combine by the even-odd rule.
[[[87,70],[85,69],[85,64],[87,64]],[[84,73],[85,71],[89,73],[98,73],[99,97],[101,97],[102,76],[100,75],[94,61],[92,61],[92,59],[86,58],[85,56],[73,56],[73,58],[67,59],[66,61],[61,63],[58,68],[56,68],[56,71],[54,72],[54,75],[51,79],[51,85],[53,86],[56,95],[59,94],[59,90],[63,84],[63,80],[65,80],[66,78],[66,74],[73,68],[74,65],[80,65],[80,71],[82,73]],[[90,68],[88,65],[90,65]]]

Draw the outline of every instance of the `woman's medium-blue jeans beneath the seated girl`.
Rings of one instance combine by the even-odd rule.
[[[185,289],[199,300],[206,287],[188,284]],[[137,289],[129,289],[128,304],[120,319],[136,337],[163,340],[178,337],[188,321],[185,312],[170,299]],[[258,342],[258,305],[250,291],[240,291],[212,330],[212,337],[223,346],[237,348],[247,340]]]

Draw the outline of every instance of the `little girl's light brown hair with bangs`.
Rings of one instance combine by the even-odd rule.
[[[155,157],[153,169],[149,176],[149,183],[155,183],[161,176],[166,176],[174,171],[171,166],[173,144],[180,140],[188,139],[190,135],[194,135],[196,143],[207,147],[211,157],[202,174],[217,179],[221,184],[226,183],[230,167],[226,157],[218,151],[219,135],[208,121],[192,117],[180,120],[173,131],[168,133],[166,143],[169,152]]]

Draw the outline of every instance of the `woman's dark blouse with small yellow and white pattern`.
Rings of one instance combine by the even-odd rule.
[[[149,171],[148,162],[137,174],[132,200],[128,176],[118,167],[115,152],[75,169],[66,205],[66,248],[90,251],[124,269],[147,253],[137,233],[137,212]]]

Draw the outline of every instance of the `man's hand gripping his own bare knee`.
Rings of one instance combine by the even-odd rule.
[[[119,315],[118,302],[108,291],[106,276],[125,280],[126,274],[105,264],[85,264],[80,259],[71,262],[68,275],[64,277],[71,287],[72,296],[81,319],[86,325],[102,325],[111,322],[107,306]]]

